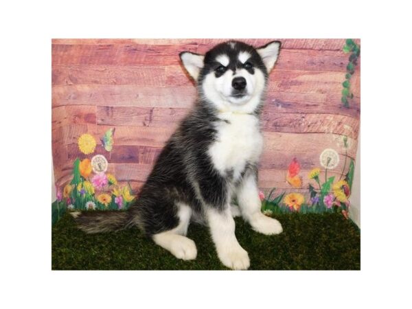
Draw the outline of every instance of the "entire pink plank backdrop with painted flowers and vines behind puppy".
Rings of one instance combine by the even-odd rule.
[[[279,39],[262,114],[262,212],[348,218],[360,116],[360,41]],[[194,99],[179,52],[223,39],[55,39],[52,151],[66,211],[128,209]],[[252,45],[271,40],[247,39]]]

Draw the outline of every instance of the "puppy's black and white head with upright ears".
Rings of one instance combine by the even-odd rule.
[[[238,41],[216,45],[204,56],[183,52],[181,60],[203,98],[221,110],[253,111],[279,55],[280,42],[254,48]]]

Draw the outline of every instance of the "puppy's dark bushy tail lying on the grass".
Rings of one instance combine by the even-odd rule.
[[[128,211],[72,212],[78,228],[86,233],[105,233],[130,227]]]

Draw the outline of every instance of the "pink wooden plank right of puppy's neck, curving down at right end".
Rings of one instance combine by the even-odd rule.
[[[359,120],[354,117],[318,113],[262,113],[265,131],[284,133],[334,133],[358,139]]]

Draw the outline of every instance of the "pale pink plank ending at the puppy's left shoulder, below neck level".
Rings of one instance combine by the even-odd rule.
[[[98,106],[98,124],[108,126],[174,126],[185,115],[187,108]]]

